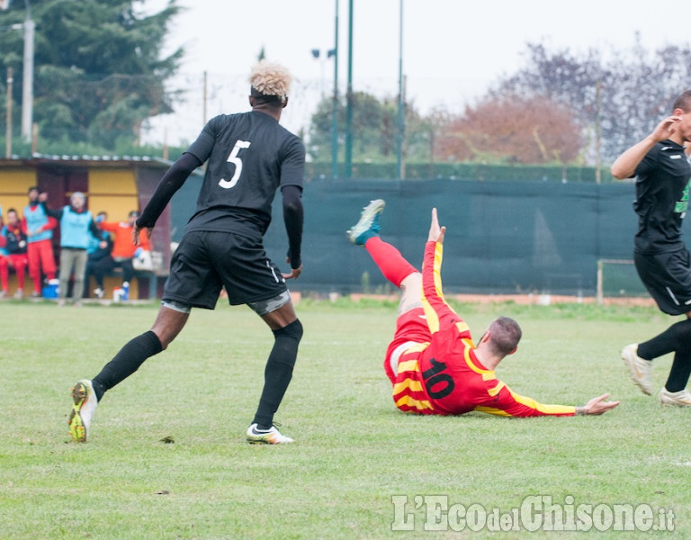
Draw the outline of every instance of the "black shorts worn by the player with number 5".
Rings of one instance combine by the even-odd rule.
[[[268,300],[288,290],[261,239],[230,232],[185,233],[170,263],[162,300],[213,310],[223,286],[231,305]]]

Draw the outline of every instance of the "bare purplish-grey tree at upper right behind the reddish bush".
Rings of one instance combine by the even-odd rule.
[[[639,38],[631,50],[611,50],[607,61],[593,49],[581,56],[568,49],[551,52],[542,44],[527,49],[527,66],[490,94],[543,97],[569,107],[585,129],[583,152],[590,161],[598,137],[600,156],[611,161],[650,133],[691,78],[688,45],[650,52]]]

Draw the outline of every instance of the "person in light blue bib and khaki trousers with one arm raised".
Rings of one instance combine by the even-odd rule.
[[[91,240],[100,234],[91,212],[85,209],[84,193],[75,192],[69,198],[69,204],[57,210],[48,208],[48,193],[40,193],[39,201],[43,209],[60,223],[60,300],[64,306],[67,298],[69,278],[74,271],[75,283],[72,287],[72,302],[76,306],[82,303],[84,278],[86,272],[86,253]]]

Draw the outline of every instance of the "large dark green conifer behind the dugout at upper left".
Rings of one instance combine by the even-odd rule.
[[[43,138],[88,140],[113,148],[119,139],[136,141],[149,117],[171,112],[166,80],[175,74],[183,50],[159,58],[175,0],[157,14],[144,15],[144,2],[121,0],[32,0],[36,23],[34,121]],[[3,23],[21,23],[24,4],[14,0]],[[22,33],[0,32],[6,51],[0,66],[22,80]],[[14,99],[22,85],[14,85]]]

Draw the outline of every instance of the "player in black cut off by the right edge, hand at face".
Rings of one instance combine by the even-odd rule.
[[[633,382],[652,393],[651,361],[674,352],[672,367],[659,399],[663,405],[691,407],[687,391],[691,375],[691,255],[681,238],[681,222],[688,209],[691,166],[687,161],[691,141],[691,90],[679,95],[672,115],[660,121],[651,134],[627,149],[612,165],[612,175],[636,176],[638,231],[633,261],[661,311],[686,315],[659,336],[622,350]]]

